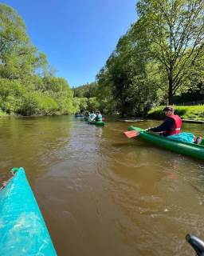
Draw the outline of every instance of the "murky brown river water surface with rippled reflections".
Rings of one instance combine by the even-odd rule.
[[[58,255],[193,255],[185,235],[204,238],[203,163],[128,140],[127,127],[0,119],[0,178],[25,167]],[[202,125],[184,130],[204,134]]]

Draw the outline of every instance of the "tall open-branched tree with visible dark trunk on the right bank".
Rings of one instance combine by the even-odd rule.
[[[168,103],[187,90],[187,75],[204,46],[203,0],[139,0],[137,39],[166,74]]]

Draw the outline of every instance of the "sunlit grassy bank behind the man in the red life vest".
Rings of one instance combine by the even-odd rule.
[[[204,120],[204,106],[174,106],[175,114],[179,114],[182,119]],[[147,118],[163,119],[163,108],[159,106],[148,112]]]

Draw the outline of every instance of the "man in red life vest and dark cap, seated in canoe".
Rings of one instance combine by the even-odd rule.
[[[179,115],[174,114],[175,110],[173,106],[166,106],[163,111],[166,115],[163,123],[160,126],[148,128],[148,130],[160,133],[165,137],[179,134],[182,127],[182,119],[179,117]]]

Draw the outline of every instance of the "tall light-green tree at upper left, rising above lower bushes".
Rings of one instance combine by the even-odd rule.
[[[33,74],[46,64],[45,54],[31,45],[22,18],[0,4],[0,78],[21,79],[29,86]]]

